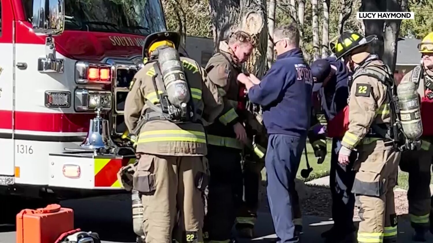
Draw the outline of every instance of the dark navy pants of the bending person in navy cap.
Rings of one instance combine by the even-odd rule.
[[[353,209],[355,195],[352,193],[355,172],[352,170],[356,153],[350,157],[351,163],[343,166],[338,162],[338,152],[341,142],[333,139],[331,148],[330,189],[332,195],[332,219],[334,227],[342,234],[355,231],[353,224]]]

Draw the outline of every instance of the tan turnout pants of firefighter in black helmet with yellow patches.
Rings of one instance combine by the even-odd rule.
[[[401,152],[383,140],[365,138],[355,161],[352,193],[359,208],[358,242],[392,242],[397,238],[393,188]]]

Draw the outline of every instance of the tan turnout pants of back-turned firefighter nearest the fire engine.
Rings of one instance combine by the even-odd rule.
[[[146,243],[203,242],[205,157],[142,154],[134,177]]]

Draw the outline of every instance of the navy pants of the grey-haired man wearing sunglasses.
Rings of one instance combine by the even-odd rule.
[[[294,239],[293,206],[296,204],[296,177],[306,136],[301,138],[270,134],[265,166],[267,192],[278,243],[297,242]]]

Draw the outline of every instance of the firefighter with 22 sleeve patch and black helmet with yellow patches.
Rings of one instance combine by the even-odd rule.
[[[395,87],[388,66],[369,51],[368,44],[375,38],[346,31],[335,45],[337,59],[343,58],[353,73],[349,84],[349,129],[343,136],[338,161],[348,165],[349,156],[357,150],[352,193],[361,218],[359,243],[397,240],[393,188],[401,152],[394,142],[398,141],[392,126],[396,113],[389,98]]]

